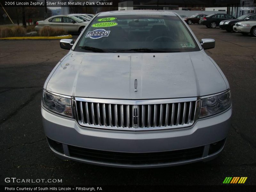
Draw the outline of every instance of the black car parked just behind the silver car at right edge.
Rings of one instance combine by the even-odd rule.
[[[244,14],[237,19],[231,19],[231,20],[224,20],[220,22],[220,28],[225,29],[228,32],[233,31],[233,26],[235,23],[240,22],[240,21],[248,21],[248,20],[256,20],[256,13],[247,13]]]

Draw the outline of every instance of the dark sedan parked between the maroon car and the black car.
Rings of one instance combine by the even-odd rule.
[[[208,28],[216,28],[216,26],[220,25],[220,21],[227,19],[236,19],[235,17],[225,14],[225,13],[215,13],[211,15],[207,15],[200,19],[200,24],[205,25]]]

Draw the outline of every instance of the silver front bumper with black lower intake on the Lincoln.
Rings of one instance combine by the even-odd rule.
[[[105,166],[148,168],[207,161],[217,156],[228,135],[232,108],[197,120],[188,128],[144,132],[86,128],[44,108],[41,112],[44,132],[57,156]]]

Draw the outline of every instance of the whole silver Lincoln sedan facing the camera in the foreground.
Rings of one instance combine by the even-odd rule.
[[[199,43],[178,14],[102,12],[60,46],[69,52],[44,84],[41,110],[57,156],[148,168],[223,149],[232,107],[228,81],[204,51],[215,41]]]

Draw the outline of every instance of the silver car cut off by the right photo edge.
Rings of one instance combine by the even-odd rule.
[[[233,30],[236,32],[240,32],[243,35],[248,35],[250,33],[251,36],[256,37],[256,21],[248,20],[237,22],[233,26]]]

